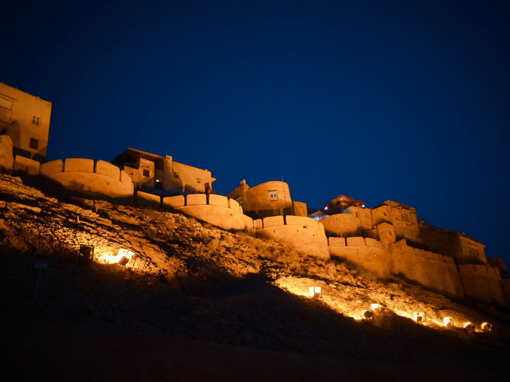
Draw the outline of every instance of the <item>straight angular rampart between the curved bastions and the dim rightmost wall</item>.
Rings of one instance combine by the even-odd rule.
[[[437,253],[418,250],[400,240],[389,245],[394,274],[417,281],[441,294],[464,297],[463,286],[453,258]]]

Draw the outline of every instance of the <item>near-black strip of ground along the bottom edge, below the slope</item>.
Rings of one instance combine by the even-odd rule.
[[[48,322],[2,326],[4,372],[21,380],[490,381],[502,369],[306,356]],[[5,375],[5,374],[4,374]]]

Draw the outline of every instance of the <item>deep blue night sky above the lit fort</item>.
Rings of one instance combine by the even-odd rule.
[[[10,3],[0,80],[53,103],[48,160],[133,147],[218,194],[389,199],[510,267],[506,1]]]

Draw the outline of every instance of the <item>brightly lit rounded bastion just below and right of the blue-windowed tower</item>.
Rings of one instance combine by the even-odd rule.
[[[254,227],[258,235],[271,237],[310,256],[329,258],[324,227],[310,217],[269,216],[254,221]]]

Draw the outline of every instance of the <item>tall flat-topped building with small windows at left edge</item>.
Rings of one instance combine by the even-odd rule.
[[[45,161],[51,112],[51,102],[0,83],[0,132],[11,139],[14,158]]]

